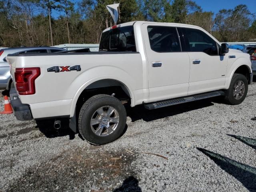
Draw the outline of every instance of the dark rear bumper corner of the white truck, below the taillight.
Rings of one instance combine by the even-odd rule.
[[[22,104],[19,98],[11,100],[11,106],[17,120],[27,121],[32,120],[32,114],[28,104]]]

